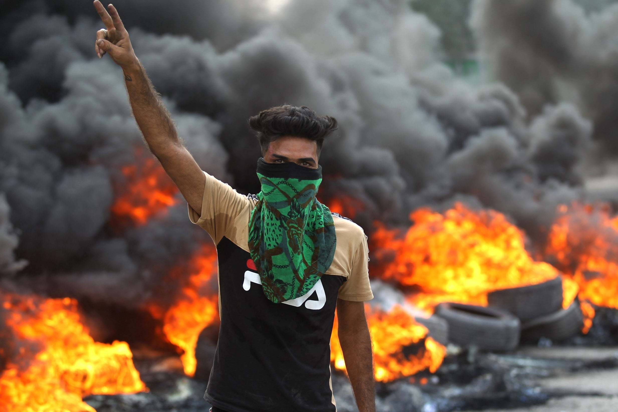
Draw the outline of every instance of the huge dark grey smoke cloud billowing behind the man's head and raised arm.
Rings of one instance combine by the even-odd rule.
[[[582,195],[590,122],[570,104],[527,116],[506,86],[456,78],[438,28],[407,1],[292,0],[272,15],[247,0],[114,6],[198,164],[240,193],[259,190],[248,117],[290,103],[339,121],[320,194],[362,204],[354,219],[369,234],[375,219],[408,225],[415,208],[465,200],[536,239],[557,204]],[[89,2],[29,2],[1,18],[0,192],[30,262],[16,279],[138,306],[207,235],[180,194],[145,225],[111,224],[121,168],[143,164],[144,143],[121,70],[94,53],[100,27]]]

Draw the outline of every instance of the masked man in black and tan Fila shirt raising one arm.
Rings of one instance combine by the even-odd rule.
[[[373,298],[363,230],[315,195],[321,146],[337,127],[308,107],[250,119],[263,158],[261,191],[243,196],[200,169],[138,61],[118,12],[95,0],[106,29],[99,58],[122,68],[133,116],[151,152],[187,200],[190,220],[217,248],[219,342],[204,398],[212,411],[336,411],[329,338],[339,341],[360,412],[375,412],[371,341],[363,301]]]

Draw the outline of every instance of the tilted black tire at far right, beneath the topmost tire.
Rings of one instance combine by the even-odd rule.
[[[577,335],[583,326],[583,314],[578,299],[566,309],[541,316],[522,324],[522,340],[536,342],[540,338],[564,340]]]

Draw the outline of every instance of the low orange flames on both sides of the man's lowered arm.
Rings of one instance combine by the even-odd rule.
[[[365,305],[365,311],[371,334],[376,380],[389,382],[412,376],[425,369],[431,372],[438,370],[446,348],[426,337],[427,328],[415,322],[404,309],[395,306],[386,313],[380,310],[372,311],[369,305]],[[423,339],[425,341],[419,343]],[[415,343],[420,346],[418,353],[414,356],[405,355],[404,349]],[[345,361],[337,335],[337,317],[331,335],[331,361],[336,369],[345,371]]]

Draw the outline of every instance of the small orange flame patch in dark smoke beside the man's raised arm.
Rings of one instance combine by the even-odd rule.
[[[142,148],[137,149],[136,157],[143,159],[139,166],[122,167],[126,181],[117,190],[120,195],[111,208],[116,219],[129,219],[138,225],[174,206],[177,202],[174,195],[178,191],[159,162],[143,156],[142,151]]]

